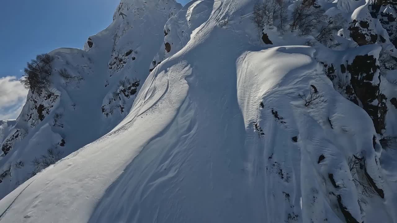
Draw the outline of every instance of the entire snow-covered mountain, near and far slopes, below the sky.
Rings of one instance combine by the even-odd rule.
[[[276,2],[259,31],[255,5],[123,0],[51,52],[71,77],[7,130],[0,222],[396,222],[394,3]],[[26,179],[48,148],[77,151]]]

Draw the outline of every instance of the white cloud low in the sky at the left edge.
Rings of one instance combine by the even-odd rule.
[[[27,92],[17,77],[0,78],[0,120],[17,118],[26,102]]]

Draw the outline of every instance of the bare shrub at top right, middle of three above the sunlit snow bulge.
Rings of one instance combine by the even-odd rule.
[[[299,35],[307,35],[326,18],[323,10],[313,8],[309,4],[299,4],[292,12],[290,29],[291,31],[299,30]]]

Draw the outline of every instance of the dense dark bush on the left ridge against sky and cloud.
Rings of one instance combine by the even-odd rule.
[[[48,54],[40,54],[36,56],[36,60],[27,63],[24,69],[24,75],[21,83],[25,88],[32,90],[47,87],[49,77],[52,74],[52,65],[54,57]]]

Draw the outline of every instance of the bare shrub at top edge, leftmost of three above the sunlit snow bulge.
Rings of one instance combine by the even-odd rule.
[[[252,22],[259,31],[265,25],[275,25],[276,20],[279,21],[278,28],[283,31],[287,20],[287,7],[282,0],[264,0],[254,5]]]

